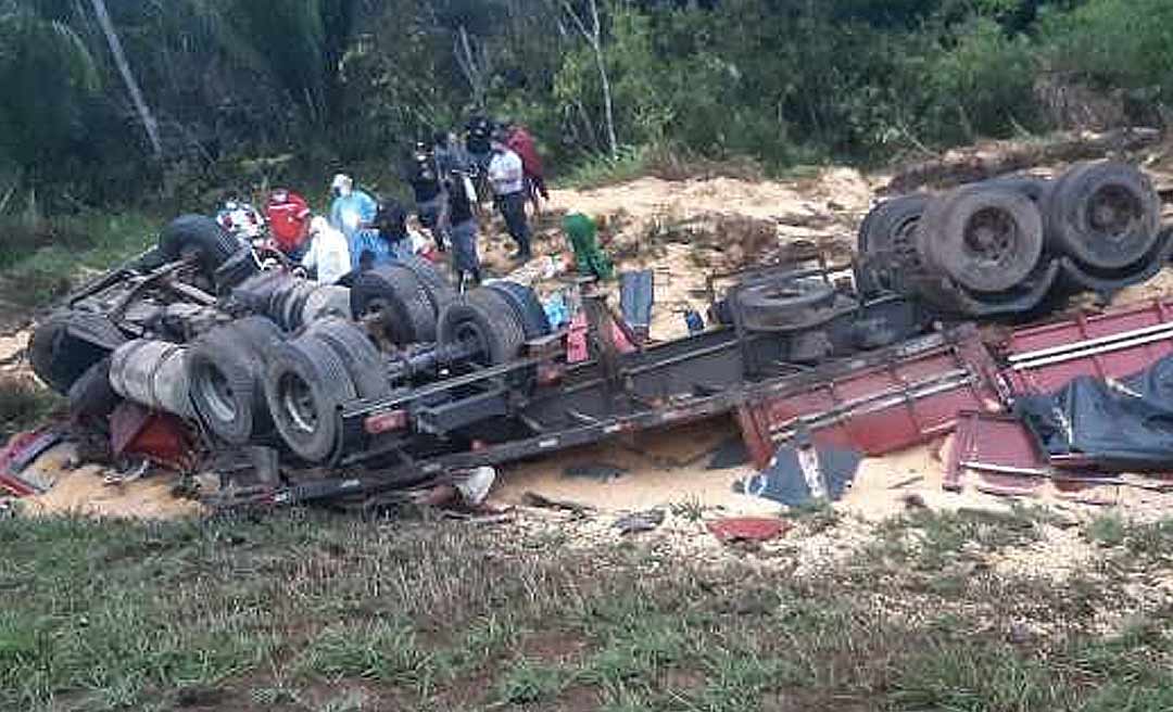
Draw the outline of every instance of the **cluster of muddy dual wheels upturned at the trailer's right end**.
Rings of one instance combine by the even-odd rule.
[[[1077,291],[1111,294],[1173,256],[1160,198],[1135,168],[1076,165],[1056,181],[995,178],[877,205],[859,236],[860,284],[965,317],[1028,314]]]

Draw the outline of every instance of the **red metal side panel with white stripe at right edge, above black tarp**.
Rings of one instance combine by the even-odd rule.
[[[1008,355],[1023,355],[1171,323],[1173,301],[1150,301],[1103,314],[1080,314],[1066,321],[1016,330],[1008,343]],[[1173,353],[1173,339],[1140,340],[1148,343],[1121,343],[1118,347],[1099,348],[1096,350],[1099,353],[1059,362],[1008,368],[1005,375],[1018,393],[1046,393],[1062,388],[1080,375],[1121,379],[1144,371]]]

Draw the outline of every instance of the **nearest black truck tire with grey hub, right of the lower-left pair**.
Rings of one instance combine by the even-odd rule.
[[[313,338],[289,341],[265,373],[265,400],[285,445],[306,462],[330,460],[341,442],[338,408],[358,398],[333,350]]]

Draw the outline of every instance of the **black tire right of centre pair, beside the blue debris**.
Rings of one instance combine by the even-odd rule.
[[[526,345],[526,332],[500,293],[480,287],[445,307],[439,340],[441,346],[470,341],[477,346],[476,362],[496,366],[517,358]]]

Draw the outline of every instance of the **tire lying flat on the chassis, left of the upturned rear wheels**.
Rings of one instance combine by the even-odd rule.
[[[739,289],[737,305],[748,331],[814,326],[830,318],[835,290],[821,282],[772,280]]]

